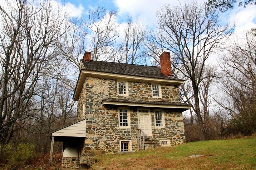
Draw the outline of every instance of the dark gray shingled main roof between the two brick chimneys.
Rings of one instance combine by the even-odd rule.
[[[142,76],[150,78],[170,79],[170,80],[181,80],[176,76],[166,76],[161,73],[160,67],[154,66],[143,66],[135,64],[125,64],[117,62],[101,62],[92,61],[84,62],[81,60],[85,69],[89,71],[100,71],[106,73],[123,74],[129,76]]]

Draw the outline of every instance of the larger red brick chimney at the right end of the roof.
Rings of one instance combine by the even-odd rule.
[[[164,51],[160,55],[160,67],[161,73],[165,74],[166,76],[172,76],[172,69],[171,69],[171,61],[170,61],[170,53]]]

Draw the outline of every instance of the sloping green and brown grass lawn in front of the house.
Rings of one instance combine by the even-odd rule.
[[[195,154],[205,156],[189,158]],[[96,159],[96,165],[106,169],[256,169],[256,137],[190,142]]]

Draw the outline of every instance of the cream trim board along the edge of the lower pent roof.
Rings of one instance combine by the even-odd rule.
[[[102,103],[102,105],[112,104],[112,105],[123,105],[123,106],[151,107],[151,108],[182,108],[182,109],[190,109],[191,108],[191,106],[144,104],[144,103],[126,103],[126,102],[111,102],[111,101],[102,101],[101,103]]]

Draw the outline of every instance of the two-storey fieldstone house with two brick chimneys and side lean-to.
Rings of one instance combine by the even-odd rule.
[[[160,67],[92,61],[85,52],[73,96],[79,121],[52,132],[52,146],[63,141],[63,168],[90,165],[96,154],[185,143],[182,112],[191,106],[180,102],[183,82],[168,52]]]

